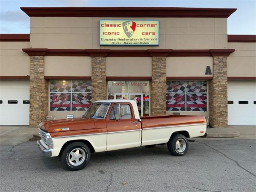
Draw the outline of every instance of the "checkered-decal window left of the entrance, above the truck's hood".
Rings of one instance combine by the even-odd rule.
[[[92,103],[92,83],[83,80],[51,80],[51,111],[85,111]]]

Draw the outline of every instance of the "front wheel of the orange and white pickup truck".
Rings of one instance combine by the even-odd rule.
[[[91,157],[90,149],[82,142],[74,142],[66,146],[61,155],[64,168],[78,171],[86,167]]]

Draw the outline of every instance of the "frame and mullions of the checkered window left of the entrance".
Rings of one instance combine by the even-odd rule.
[[[51,92],[51,82],[52,81],[70,81],[70,92]],[[91,92],[72,92],[72,85],[73,85],[72,83],[75,82],[75,81],[90,81],[91,84],[92,84],[91,80],[59,80],[59,79],[49,80],[49,89],[48,89],[48,92],[49,92],[49,94],[48,94],[48,96],[49,96],[49,106],[48,106],[49,111],[53,111],[53,112],[83,111],[83,110],[72,110],[72,94],[90,94],[90,96],[92,96],[92,90],[91,90]],[[51,110],[51,103],[50,103],[51,94],[70,94],[70,110],[61,110],[61,111]],[[86,112],[87,110],[84,110],[84,112]]]

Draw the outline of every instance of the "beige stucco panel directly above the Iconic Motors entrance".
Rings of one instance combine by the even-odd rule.
[[[151,57],[106,57],[106,76],[152,75]]]

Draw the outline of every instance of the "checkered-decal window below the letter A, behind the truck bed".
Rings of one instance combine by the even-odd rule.
[[[167,111],[207,111],[207,81],[167,81]]]

